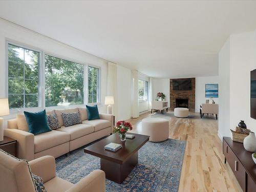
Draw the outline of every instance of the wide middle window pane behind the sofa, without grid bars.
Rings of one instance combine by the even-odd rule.
[[[84,66],[45,55],[46,106],[83,104]]]

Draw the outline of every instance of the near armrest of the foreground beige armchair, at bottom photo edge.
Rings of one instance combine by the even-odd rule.
[[[88,176],[81,179],[72,186],[67,192],[104,192],[105,191],[105,173],[103,170],[94,170]]]

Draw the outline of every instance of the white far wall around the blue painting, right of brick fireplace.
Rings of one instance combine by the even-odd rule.
[[[209,77],[196,77],[196,104],[195,112],[200,111],[200,105],[205,103],[205,84],[219,83],[218,76],[209,76]],[[215,103],[219,103],[219,98],[213,98]]]

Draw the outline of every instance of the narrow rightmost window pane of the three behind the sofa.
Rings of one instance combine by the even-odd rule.
[[[88,103],[99,102],[99,69],[88,66]]]

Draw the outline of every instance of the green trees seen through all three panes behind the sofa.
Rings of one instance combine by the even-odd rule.
[[[39,59],[36,51],[8,45],[8,98],[10,109],[38,106]],[[83,104],[84,66],[45,56],[46,106]],[[98,102],[99,69],[88,67],[89,103]]]

